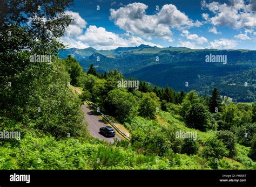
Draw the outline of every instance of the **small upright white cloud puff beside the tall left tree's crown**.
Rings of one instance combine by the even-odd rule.
[[[79,35],[82,34],[83,28],[86,27],[86,21],[80,17],[79,13],[72,11],[65,11],[66,15],[72,16],[70,25],[66,28],[67,35]]]

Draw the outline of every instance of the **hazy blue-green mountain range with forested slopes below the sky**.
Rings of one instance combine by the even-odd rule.
[[[65,58],[69,54],[84,70],[94,64],[99,73],[117,69],[126,78],[159,87],[169,85],[177,91],[197,90],[200,95],[209,95],[217,87],[221,95],[237,102],[255,101],[256,51],[140,45],[112,50],[70,48],[60,51],[59,56]],[[215,61],[207,61],[207,56],[214,57]],[[226,63],[221,61],[225,57]]]

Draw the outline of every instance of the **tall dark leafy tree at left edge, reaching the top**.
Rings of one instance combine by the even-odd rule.
[[[0,1],[0,108],[6,116],[20,120],[33,89],[54,69],[65,47],[58,39],[72,20],[64,12],[71,2]],[[48,55],[49,62],[32,61],[35,55]]]

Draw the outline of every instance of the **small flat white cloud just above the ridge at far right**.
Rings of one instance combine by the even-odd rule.
[[[215,49],[232,49],[237,46],[237,41],[221,38],[219,40],[211,41],[208,44],[208,48],[215,48]]]

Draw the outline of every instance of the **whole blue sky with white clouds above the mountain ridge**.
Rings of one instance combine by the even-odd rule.
[[[69,48],[139,46],[256,49],[254,0],[75,0]]]

